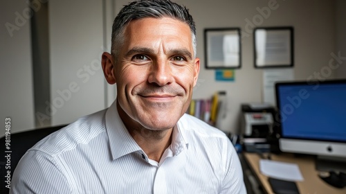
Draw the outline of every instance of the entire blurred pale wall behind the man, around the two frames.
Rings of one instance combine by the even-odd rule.
[[[0,118],[11,132],[71,123],[109,107],[114,85],[104,80],[100,57],[110,50],[111,25],[124,0],[0,2]],[[265,69],[254,67],[253,29],[294,28],[295,80],[346,78],[346,1],[180,0],[197,25],[199,81],[192,98],[226,91],[221,130],[239,132],[242,103],[263,103]],[[206,28],[240,28],[242,67],[232,82],[205,68]],[[331,69],[330,61],[339,64]],[[3,128],[3,127],[1,127]],[[0,131],[0,136],[5,134]]]

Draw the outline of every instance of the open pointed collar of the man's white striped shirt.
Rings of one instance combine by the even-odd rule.
[[[109,138],[109,147],[111,150],[112,159],[118,159],[132,152],[143,152],[140,146],[134,141],[129,131],[118,114],[116,100],[107,109],[105,116],[105,125]],[[172,150],[173,156],[179,155],[185,149],[188,149],[188,142],[185,141],[184,129],[188,127],[188,123],[179,119],[172,131],[172,143],[168,149]]]

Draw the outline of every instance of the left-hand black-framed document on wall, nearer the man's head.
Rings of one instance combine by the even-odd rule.
[[[240,28],[204,30],[206,69],[237,69],[242,66]]]

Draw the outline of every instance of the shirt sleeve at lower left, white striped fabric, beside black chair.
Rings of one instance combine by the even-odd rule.
[[[72,193],[72,190],[53,157],[30,150],[15,168],[10,193]]]

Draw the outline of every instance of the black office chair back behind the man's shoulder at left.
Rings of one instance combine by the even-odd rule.
[[[33,147],[35,143],[43,139],[48,134],[51,134],[57,130],[60,130],[66,125],[57,125],[54,127],[44,127],[37,130],[28,130],[26,132],[18,132],[10,135],[10,151],[6,149],[6,136],[1,137],[0,139],[0,172],[1,172],[1,184],[0,184],[0,193],[9,193],[9,189],[6,188],[6,176],[8,175],[8,170],[10,171],[10,179],[12,181],[13,171],[19,162],[19,159],[25,154],[25,152]],[[6,158],[6,155],[10,154],[10,159]],[[7,166],[6,166],[7,164]],[[8,169],[10,166],[10,169]],[[6,168],[7,167],[7,168]]]

